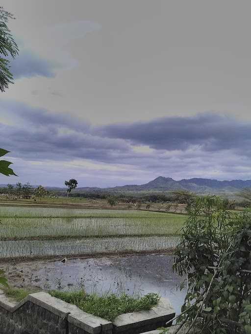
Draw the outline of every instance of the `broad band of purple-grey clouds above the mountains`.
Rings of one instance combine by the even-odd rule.
[[[251,123],[227,114],[93,127],[70,113],[5,101],[0,131],[23,181],[60,185],[72,174],[88,186],[144,183],[158,175],[251,178]]]

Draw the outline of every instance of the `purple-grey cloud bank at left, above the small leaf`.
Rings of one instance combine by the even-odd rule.
[[[13,102],[1,103],[0,113],[15,119],[15,125],[0,123],[1,146],[15,156],[109,161],[114,152],[129,150],[125,141],[101,138],[91,133],[87,123],[67,114],[57,115]]]

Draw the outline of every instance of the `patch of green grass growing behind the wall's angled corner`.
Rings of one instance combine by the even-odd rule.
[[[99,296],[95,293],[87,294],[83,290],[75,292],[52,290],[50,295],[74,304],[84,312],[100,316],[109,321],[113,321],[119,314],[151,310],[160,298],[156,293],[148,293],[143,297],[132,297],[127,294],[118,296],[108,293]]]

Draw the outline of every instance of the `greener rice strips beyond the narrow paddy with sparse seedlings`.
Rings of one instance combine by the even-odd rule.
[[[133,210],[0,208],[0,240],[179,235],[187,216]]]

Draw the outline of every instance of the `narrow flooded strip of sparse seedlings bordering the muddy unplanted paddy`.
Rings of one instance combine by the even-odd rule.
[[[179,237],[84,238],[0,241],[0,258],[144,252],[174,248]]]

